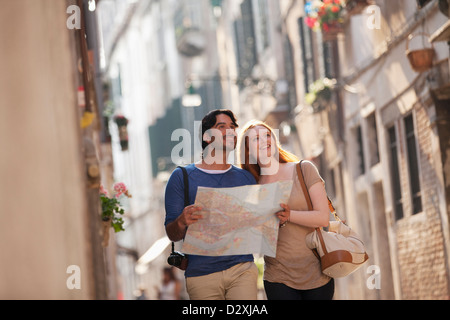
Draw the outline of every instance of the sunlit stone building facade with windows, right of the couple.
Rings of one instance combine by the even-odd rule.
[[[344,14],[334,38],[307,28],[304,2],[281,5],[294,52],[302,156],[319,166],[338,213],[370,256],[337,280],[335,298],[448,299],[445,1],[345,2],[363,8]],[[414,42],[421,33],[425,40]],[[430,47],[429,39],[442,37],[433,43],[432,68],[414,71],[407,46]],[[309,105],[308,81],[330,76],[330,101]]]

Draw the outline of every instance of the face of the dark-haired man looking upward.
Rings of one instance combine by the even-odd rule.
[[[210,146],[232,151],[237,143],[236,126],[229,116],[218,114],[216,124],[205,132],[203,138],[210,142]]]

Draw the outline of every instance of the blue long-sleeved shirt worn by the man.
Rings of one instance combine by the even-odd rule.
[[[189,178],[189,204],[193,204],[198,187],[230,188],[256,184],[255,178],[246,170],[231,166],[225,173],[209,174],[198,169],[194,164],[186,166]],[[164,225],[174,221],[184,209],[184,181],[180,168],[173,171],[166,186],[165,194],[166,220]],[[197,256],[189,255],[186,277],[203,276],[223,271],[232,266],[253,261],[253,255],[233,256]]]

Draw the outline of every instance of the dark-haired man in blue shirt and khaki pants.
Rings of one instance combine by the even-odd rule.
[[[189,203],[184,207],[184,183],[181,169],[174,170],[167,182],[166,233],[170,240],[184,239],[188,227],[202,218],[193,205],[197,187],[227,188],[256,184],[245,170],[227,163],[236,147],[236,117],[227,109],[209,112],[202,120],[202,160],[186,166],[189,179]],[[185,272],[186,289],[191,300],[255,300],[258,271],[253,255],[189,255]]]

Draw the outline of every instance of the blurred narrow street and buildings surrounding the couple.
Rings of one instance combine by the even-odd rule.
[[[172,278],[187,299],[164,189],[222,107],[314,161],[363,237],[335,299],[450,298],[448,0],[0,5],[0,299],[159,299]]]

